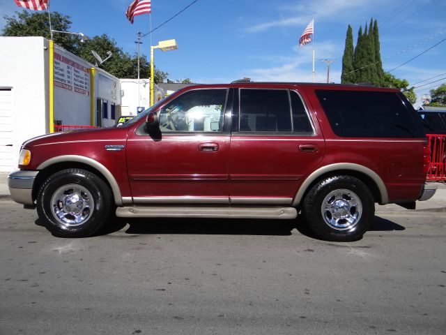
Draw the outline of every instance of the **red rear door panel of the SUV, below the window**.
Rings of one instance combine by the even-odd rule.
[[[317,147],[302,152],[301,144]],[[319,137],[240,136],[231,138],[229,195],[231,198],[294,198],[302,178],[322,160]]]

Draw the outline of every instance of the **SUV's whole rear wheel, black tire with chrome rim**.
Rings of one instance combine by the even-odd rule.
[[[369,188],[351,176],[335,176],[318,182],[303,201],[308,227],[326,241],[355,241],[369,229],[375,214]]]

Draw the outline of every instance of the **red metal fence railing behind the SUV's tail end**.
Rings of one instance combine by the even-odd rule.
[[[427,134],[426,136],[431,147],[431,165],[426,179],[446,182],[446,135]]]

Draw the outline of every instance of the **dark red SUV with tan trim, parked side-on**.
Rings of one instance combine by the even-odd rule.
[[[118,217],[295,219],[351,241],[374,204],[429,199],[429,147],[399,91],[334,84],[187,87],[119,128],[23,144],[10,194],[49,231]],[[150,223],[148,223],[150,224]]]

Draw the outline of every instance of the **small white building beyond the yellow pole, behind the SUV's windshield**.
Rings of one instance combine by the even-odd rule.
[[[139,87],[137,79],[120,79],[121,82],[121,115],[136,115],[138,107],[146,110],[151,103],[151,82],[149,79],[140,79]],[[154,85],[155,103],[164,98],[164,91]]]

